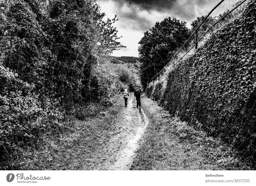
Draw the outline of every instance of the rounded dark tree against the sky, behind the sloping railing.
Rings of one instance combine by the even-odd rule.
[[[190,34],[186,22],[165,18],[156,22],[140,40],[139,56],[142,63],[142,84],[155,76],[170,61],[174,53],[188,39]]]

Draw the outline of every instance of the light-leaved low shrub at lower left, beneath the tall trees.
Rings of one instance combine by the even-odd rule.
[[[9,77],[7,77],[10,79]],[[13,82],[18,80],[14,86]],[[41,104],[42,98],[34,92],[35,86],[19,79],[8,82],[0,94],[0,164],[10,169],[10,161],[18,159],[26,149],[40,142],[40,135],[57,134],[63,125],[63,106],[60,97],[51,92]],[[7,163],[8,162],[8,163]]]

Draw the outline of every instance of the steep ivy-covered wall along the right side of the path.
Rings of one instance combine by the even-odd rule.
[[[158,101],[247,157],[256,154],[255,23],[256,4],[251,1],[239,19],[213,33],[193,56],[173,67]]]

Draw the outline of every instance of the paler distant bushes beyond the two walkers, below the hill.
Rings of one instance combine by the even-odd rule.
[[[89,74],[90,81],[83,81],[83,84],[89,84],[82,89],[84,101],[110,99],[116,93],[128,88],[132,91],[136,84],[140,84],[139,69],[133,64],[113,64],[112,58],[104,56],[97,61]]]

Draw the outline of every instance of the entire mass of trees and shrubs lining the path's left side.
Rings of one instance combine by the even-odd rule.
[[[124,46],[116,16],[104,21],[96,0],[1,1],[0,15],[2,162],[88,101],[116,92],[118,78],[101,73],[101,59]]]

